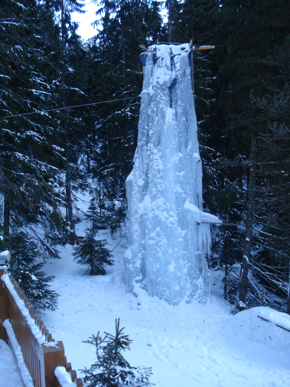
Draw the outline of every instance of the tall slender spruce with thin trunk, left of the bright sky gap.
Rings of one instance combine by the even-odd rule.
[[[67,110],[67,106],[84,103],[84,92],[80,64],[83,63],[85,51],[82,48],[80,37],[77,35],[77,23],[72,22],[72,12],[84,13],[84,3],[77,0],[51,0],[51,5],[59,14],[60,45],[58,46],[59,76],[57,81],[58,94],[64,110],[59,115],[60,140],[64,148],[65,169],[65,201],[66,221],[70,226],[70,243],[75,243],[75,222],[73,206],[75,203],[73,192],[82,188],[84,174],[80,173],[79,154],[82,148],[82,120],[79,109]]]

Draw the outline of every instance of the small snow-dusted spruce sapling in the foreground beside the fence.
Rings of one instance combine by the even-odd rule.
[[[153,385],[149,383],[152,375],[151,367],[131,367],[121,354],[121,351],[129,349],[132,340],[128,335],[123,334],[123,329],[119,327],[120,319],[115,319],[116,335],[113,336],[104,332],[106,336],[102,339],[100,332],[97,336],[87,340],[89,344],[96,347],[97,361],[85,373],[84,382],[87,387],[142,387]]]

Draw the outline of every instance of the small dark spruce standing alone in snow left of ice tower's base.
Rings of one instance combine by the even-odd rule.
[[[106,274],[104,266],[112,266],[113,255],[106,248],[106,240],[96,240],[97,231],[91,227],[86,229],[85,237],[80,240],[80,244],[74,247],[74,260],[81,265],[90,266],[90,275]]]

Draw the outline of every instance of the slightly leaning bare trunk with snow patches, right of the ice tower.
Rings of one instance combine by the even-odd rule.
[[[249,182],[247,192],[247,216],[246,216],[246,230],[244,239],[244,248],[242,251],[242,262],[241,262],[241,277],[239,283],[239,310],[246,309],[246,294],[248,285],[248,272],[251,262],[251,243],[253,233],[253,212],[254,212],[254,201],[255,201],[255,177],[256,177],[256,139],[254,135],[251,136],[251,163],[249,171]]]

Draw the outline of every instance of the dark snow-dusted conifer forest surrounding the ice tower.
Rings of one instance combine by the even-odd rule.
[[[41,268],[58,245],[80,243],[79,192],[94,198],[99,228],[125,232],[139,45],[192,40],[216,47],[193,53],[204,211],[224,222],[212,228],[208,265],[224,271],[233,313],[256,305],[290,313],[289,1],[97,5],[98,32],[84,43],[71,19],[82,2],[0,3],[1,244],[14,277],[36,306],[55,308],[53,277]]]

